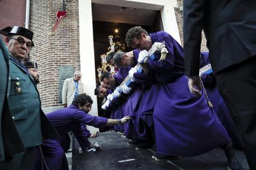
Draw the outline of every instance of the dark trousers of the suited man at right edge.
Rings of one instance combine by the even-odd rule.
[[[218,89],[238,127],[250,169],[256,169],[256,56],[215,76]]]

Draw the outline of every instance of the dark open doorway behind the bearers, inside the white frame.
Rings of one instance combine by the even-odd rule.
[[[135,9],[128,7],[107,6],[102,4],[92,4],[93,13],[93,40],[95,53],[95,68],[101,67],[100,55],[109,52],[109,35],[119,36],[121,42],[125,44],[127,31],[134,26],[142,26],[148,33],[163,30],[160,11]],[[118,32],[115,32],[115,30]],[[124,52],[132,51],[126,47]],[[98,71],[95,70],[98,76]],[[98,78],[98,77],[97,77]],[[96,78],[96,79],[97,79]],[[98,115],[108,116],[101,110],[102,100],[98,99]]]

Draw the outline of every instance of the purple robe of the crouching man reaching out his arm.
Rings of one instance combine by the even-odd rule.
[[[107,118],[92,116],[85,113],[85,111],[80,110],[74,105],[53,111],[48,113],[46,116],[60,135],[73,131],[76,137],[79,136],[77,139],[79,139],[78,141],[81,147],[83,147],[83,145],[85,147],[88,141],[86,133],[83,131],[81,124],[103,127],[108,121]],[[44,140],[42,149],[49,169],[69,169],[66,155],[57,139]]]

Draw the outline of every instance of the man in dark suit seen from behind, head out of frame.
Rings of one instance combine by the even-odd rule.
[[[256,3],[253,0],[184,1],[184,53],[190,92],[198,78],[202,30],[218,89],[241,132],[250,169],[256,169]]]

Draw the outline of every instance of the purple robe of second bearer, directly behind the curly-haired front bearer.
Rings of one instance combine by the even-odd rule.
[[[139,51],[134,51],[134,65],[137,65]],[[135,73],[135,88],[129,94],[124,107],[125,116],[130,116],[129,123],[124,125],[124,132],[129,139],[137,139],[143,143],[154,144],[153,109],[155,106],[155,94],[158,93],[159,85],[151,79],[151,71]]]

